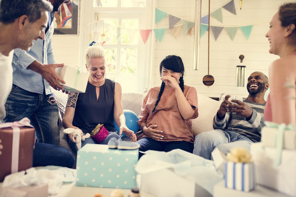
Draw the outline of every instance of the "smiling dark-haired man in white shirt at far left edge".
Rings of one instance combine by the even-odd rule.
[[[52,5],[46,0],[0,0],[0,124],[5,116],[4,103],[12,87],[13,49],[29,50],[33,45],[32,40],[44,39],[48,12],[51,10]],[[2,142],[5,140],[3,138]],[[0,152],[2,149],[0,140]],[[36,143],[33,153],[35,167],[73,167],[75,161],[70,150],[52,144]]]

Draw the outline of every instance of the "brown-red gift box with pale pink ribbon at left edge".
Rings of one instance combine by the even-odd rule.
[[[0,124],[0,182],[8,174],[32,167],[35,140],[35,128],[28,118]]]

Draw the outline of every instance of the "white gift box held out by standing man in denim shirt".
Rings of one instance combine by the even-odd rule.
[[[59,76],[66,84],[62,84],[65,90],[73,93],[85,93],[89,75],[79,69],[64,65],[58,70]]]

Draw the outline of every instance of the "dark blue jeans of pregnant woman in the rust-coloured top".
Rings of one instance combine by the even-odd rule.
[[[143,137],[137,143],[140,144],[139,159],[144,155],[140,151],[154,150],[169,152],[174,149],[181,149],[192,153],[193,150],[193,144],[186,141],[157,141],[150,137]]]

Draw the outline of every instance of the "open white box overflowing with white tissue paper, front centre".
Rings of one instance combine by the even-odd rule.
[[[140,189],[156,197],[211,197],[223,179],[213,161],[181,149],[145,153],[136,165]]]

